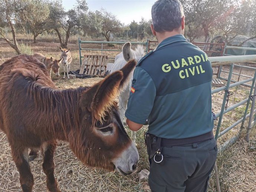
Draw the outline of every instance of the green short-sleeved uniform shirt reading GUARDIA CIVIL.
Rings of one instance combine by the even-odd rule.
[[[206,53],[181,34],[168,37],[135,67],[125,116],[140,124],[148,119],[148,131],[161,138],[211,132],[211,79]]]

